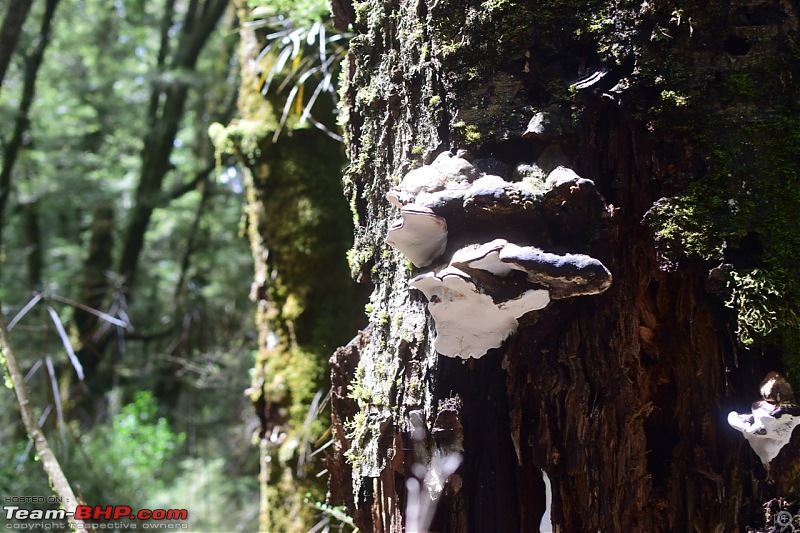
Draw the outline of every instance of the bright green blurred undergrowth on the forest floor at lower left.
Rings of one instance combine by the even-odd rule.
[[[255,476],[237,472],[236,464],[223,457],[180,460],[186,457],[187,435],[171,429],[158,410],[151,393],[138,392],[108,425],[83,434],[72,425],[53,439],[84,500],[125,502],[135,509],[186,508],[192,531],[253,530]],[[25,442],[8,452],[0,458],[0,490],[46,496],[47,480]],[[224,516],[218,505],[225,507]]]

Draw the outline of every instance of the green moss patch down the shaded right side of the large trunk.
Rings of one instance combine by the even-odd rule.
[[[668,20],[666,12],[654,17],[671,24],[671,39],[687,39],[700,27],[714,30],[721,9],[715,6],[692,13],[676,9]],[[701,13],[712,19],[699,20]],[[781,49],[797,48],[794,36],[778,39]],[[722,270],[725,305],[734,311],[739,342],[778,350],[798,383],[800,236],[794,218],[800,212],[800,123],[784,100],[785,57],[752,52],[718,69],[700,94],[695,76],[702,67],[696,57],[672,49],[669,39],[642,43],[636,52],[643,80],[661,91],[653,105],[659,131],[665,126],[685,136],[694,147],[695,168],[702,168],[648,215],[659,249],[675,264],[729,264]]]

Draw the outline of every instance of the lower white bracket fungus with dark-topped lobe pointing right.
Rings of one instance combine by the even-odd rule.
[[[525,274],[523,280],[513,276],[515,271]],[[554,294],[566,298],[603,292],[611,273],[586,255],[547,254],[496,239],[458,250],[450,265],[410,284],[428,299],[436,351],[466,359],[499,348],[516,332],[522,315],[544,309]]]

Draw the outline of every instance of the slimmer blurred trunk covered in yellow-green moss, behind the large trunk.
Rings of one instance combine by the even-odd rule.
[[[261,93],[274,61],[262,50],[274,28],[247,2],[237,8],[241,119],[215,125],[211,136],[220,151],[239,158],[247,194],[259,336],[248,393],[261,419],[260,529],[308,531],[320,522],[314,504],[325,500],[322,454],[311,454],[330,440],[328,357],[365,322],[363,294],[346,261],[353,241],[341,186],[345,158],[341,143],[315,128],[287,126],[274,139],[288,92]],[[301,57],[311,54],[319,50]],[[315,118],[335,129],[332,106],[319,108]]]

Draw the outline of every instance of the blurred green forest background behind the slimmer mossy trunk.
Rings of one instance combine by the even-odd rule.
[[[238,113],[244,25],[261,31],[253,92],[275,95],[270,132],[335,139],[325,46],[346,37],[317,0],[3,0],[0,13],[0,302],[50,445],[87,503],[254,531],[273,452],[260,455],[252,406],[264,379],[247,180],[221,125]],[[333,342],[303,352],[301,418],[325,412]],[[0,404],[0,494],[50,494],[9,387]],[[311,446],[273,454],[320,478],[296,495],[307,522],[336,515],[309,459],[328,426],[306,423]]]

